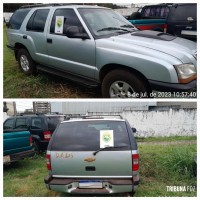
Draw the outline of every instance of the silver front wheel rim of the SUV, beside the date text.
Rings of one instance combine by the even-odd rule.
[[[134,89],[124,81],[115,81],[110,86],[109,91],[111,98],[134,98]]]

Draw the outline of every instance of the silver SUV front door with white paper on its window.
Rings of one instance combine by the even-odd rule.
[[[49,65],[64,72],[94,78],[95,41],[93,38],[67,37],[69,27],[86,33],[74,9],[57,8],[47,34]]]

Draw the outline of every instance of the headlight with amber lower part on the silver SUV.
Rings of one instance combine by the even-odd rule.
[[[189,83],[197,78],[196,68],[193,64],[174,65],[178,74],[179,83]]]

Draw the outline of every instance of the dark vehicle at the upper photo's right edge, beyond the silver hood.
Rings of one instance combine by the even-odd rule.
[[[197,4],[173,4],[167,18],[167,33],[197,40]]]

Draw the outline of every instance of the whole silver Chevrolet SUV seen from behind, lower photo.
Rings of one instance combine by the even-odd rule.
[[[47,149],[46,187],[73,194],[135,192],[139,154],[134,130],[124,119],[62,122]]]

